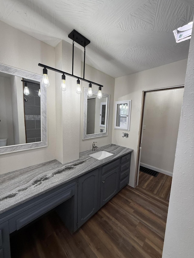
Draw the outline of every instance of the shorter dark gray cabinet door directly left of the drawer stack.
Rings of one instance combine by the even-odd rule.
[[[119,167],[102,176],[100,199],[101,207],[118,192],[118,177]]]

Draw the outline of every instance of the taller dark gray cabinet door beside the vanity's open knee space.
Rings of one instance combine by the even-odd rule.
[[[78,228],[98,210],[98,169],[78,179]]]

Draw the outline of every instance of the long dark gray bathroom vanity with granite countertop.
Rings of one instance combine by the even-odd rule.
[[[106,145],[98,160],[57,160],[0,175],[0,258],[10,258],[9,234],[54,209],[74,233],[129,182],[132,149]]]

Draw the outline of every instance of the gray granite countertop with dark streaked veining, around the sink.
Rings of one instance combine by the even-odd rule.
[[[65,164],[52,160],[0,175],[0,214],[133,151],[115,144],[102,146],[99,150],[113,155],[98,160],[89,156],[94,153],[89,150],[81,152],[79,159]]]

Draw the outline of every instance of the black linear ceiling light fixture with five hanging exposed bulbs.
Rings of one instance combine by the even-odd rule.
[[[81,94],[82,93],[82,90],[81,90],[81,87],[80,87],[80,80],[82,80],[82,81],[85,81],[85,82],[89,83],[88,96],[89,95],[92,96],[92,84],[95,84],[95,85],[99,86],[98,98],[101,99],[102,98],[101,89],[102,89],[103,85],[85,79],[85,47],[90,43],[89,39],[85,38],[82,34],[80,34],[79,32],[77,32],[75,30],[73,30],[68,35],[68,37],[73,40],[73,42],[72,42],[72,47],[73,47],[73,49],[72,49],[72,73],[66,73],[64,71],[61,71],[61,70],[55,69],[53,67],[49,67],[49,66],[47,66],[45,64],[40,64],[39,63],[38,66],[44,67],[43,68],[42,85],[45,86],[45,87],[49,87],[49,78],[48,78],[48,72],[47,72],[47,69],[49,69],[49,70],[52,70],[52,71],[55,71],[55,72],[58,72],[58,73],[62,73],[62,83],[61,83],[61,90],[62,91],[67,90],[67,86],[66,86],[66,82],[65,82],[65,75],[68,75],[70,77],[77,78],[77,87],[76,87],[76,93],[77,94]],[[79,45],[81,45],[82,47],[84,47],[83,78],[75,76],[73,74],[74,41],[76,43],[78,43]]]

